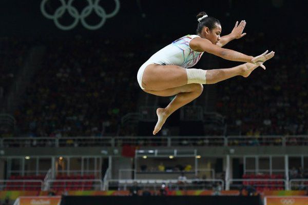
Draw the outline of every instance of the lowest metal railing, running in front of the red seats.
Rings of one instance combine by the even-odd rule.
[[[2,190],[129,190],[134,185],[140,188],[159,190],[165,183],[170,190],[240,190],[254,187],[263,190],[306,190],[308,179],[49,179],[49,180],[0,180]],[[258,188],[261,188],[260,190]]]

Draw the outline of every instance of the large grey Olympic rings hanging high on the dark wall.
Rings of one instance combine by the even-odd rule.
[[[111,18],[111,17],[117,15],[117,13],[120,10],[119,0],[114,0],[115,8],[111,13],[106,13],[105,9],[99,5],[100,0],[87,0],[88,6],[83,8],[81,13],[79,13],[79,11],[76,9],[76,7],[72,6],[73,1],[74,0],[69,0],[68,3],[66,4],[65,0],[60,0],[62,6],[57,8],[53,14],[49,14],[45,10],[45,5],[48,2],[48,0],[43,0],[41,2],[41,12],[43,13],[43,15],[46,18],[52,19],[54,24],[56,25],[56,27],[58,27],[59,29],[62,29],[62,30],[71,30],[71,29],[75,28],[78,25],[79,20],[81,20],[81,24],[86,29],[97,30],[105,24],[107,18]],[[70,24],[70,25],[67,25],[67,26],[62,25],[59,22],[59,18],[61,18],[63,16],[63,14],[65,13],[66,10],[68,11],[69,15],[74,18],[73,23]],[[93,10],[99,17],[102,18],[97,25],[89,25],[85,20],[85,18],[88,17],[92,13]]]

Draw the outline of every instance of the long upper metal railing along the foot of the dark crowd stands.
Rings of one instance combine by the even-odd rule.
[[[5,137],[0,147],[147,147],[172,146],[308,146],[308,135],[295,136],[124,136],[124,137]]]

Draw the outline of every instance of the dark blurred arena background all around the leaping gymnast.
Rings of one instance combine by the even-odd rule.
[[[283,190],[306,195],[308,16],[303,5],[1,1],[0,201],[107,190],[260,195],[261,201]],[[253,56],[274,50],[275,57],[248,78],[205,85],[199,98],[152,136],[156,109],[173,97],[143,92],[138,69],[175,39],[196,34],[201,11],[220,20],[222,35],[246,20],[247,35],[225,48]],[[195,67],[239,64],[205,54]]]

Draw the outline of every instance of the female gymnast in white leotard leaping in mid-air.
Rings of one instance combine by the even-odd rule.
[[[246,34],[243,33],[245,20],[240,24],[236,22],[230,34],[220,37],[221,24],[218,19],[205,12],[200,12],[197,19],[197,35],[186,35],[175,40],[153,54],[138,71],[137,79],[143,91],[164,97],[176,95],[166,108],[157,109],[158,121],[153,135],[161,130],[173,112],[200,96],[203,91],[202,84],[216,84],[237,75],[248,77],[258,66],[265,69],[263,63],[275,54],[273,51],[266,51],[253,57],[221,48],[230,40]],[[187,69],[195,66],[204,52],[245,64],[226,69]]]

